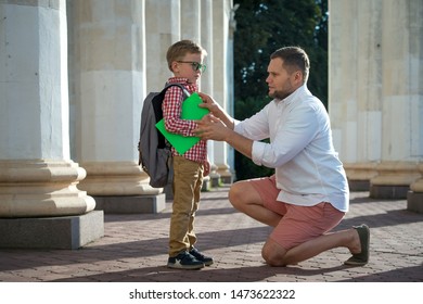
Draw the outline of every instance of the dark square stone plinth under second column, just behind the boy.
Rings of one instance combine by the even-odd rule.
[[[93,197],[95,210],[105,214],[159,213],[166,207],[166,195]]]

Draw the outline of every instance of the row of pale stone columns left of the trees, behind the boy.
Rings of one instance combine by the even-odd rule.
[[[193,39],[201,90],[233,103],[232,16],[231,0],[0,0],[0,246],[77,248],[103,211],[162,211],[138,165],[142,101]],[[211,179],[231,180],[228,147],[208,150]]]

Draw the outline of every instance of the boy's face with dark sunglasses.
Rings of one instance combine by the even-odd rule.
[[[198,65],[200,64],[200,65]],[[190,84],[197,84],[202,75],[203,58],[200,53],[187,53],[183,59],[174,61],[172,71],[176,77],[187,78]]]

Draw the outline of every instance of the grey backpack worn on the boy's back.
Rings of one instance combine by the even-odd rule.
[[[161,92],[148,94],[141,111],[138,164],[150,176],[150,186],[153,188],[164,188],[172,178],[170,144],[156,128],[156,123],[163,118],[162,103],[166,90],[172,86],[182,90],[183,99],[190,96],[181,84],[167,84]]]

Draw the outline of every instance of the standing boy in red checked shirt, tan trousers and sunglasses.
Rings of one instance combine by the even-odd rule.
[[[167,51],[167,63],[174,77],[169,84],[182,84],[192,93],[198,90],[197,81],[205,71],[203,64],[207,52],[191,40],[181,40]],[[181,119],[182,90],[170,87],[163,101],[163,116],[167,131],[194,136],[197,127],[194,121]],[[195,212],[198,210],[203,177],[209,173],[207,145],[201,140],[183,155],[171,148],[174,155],[174,204],[170,218],[169,258],[167,266],[181,269],[200,269],[213,264],[213,258],[204,256],[194,244]]]

